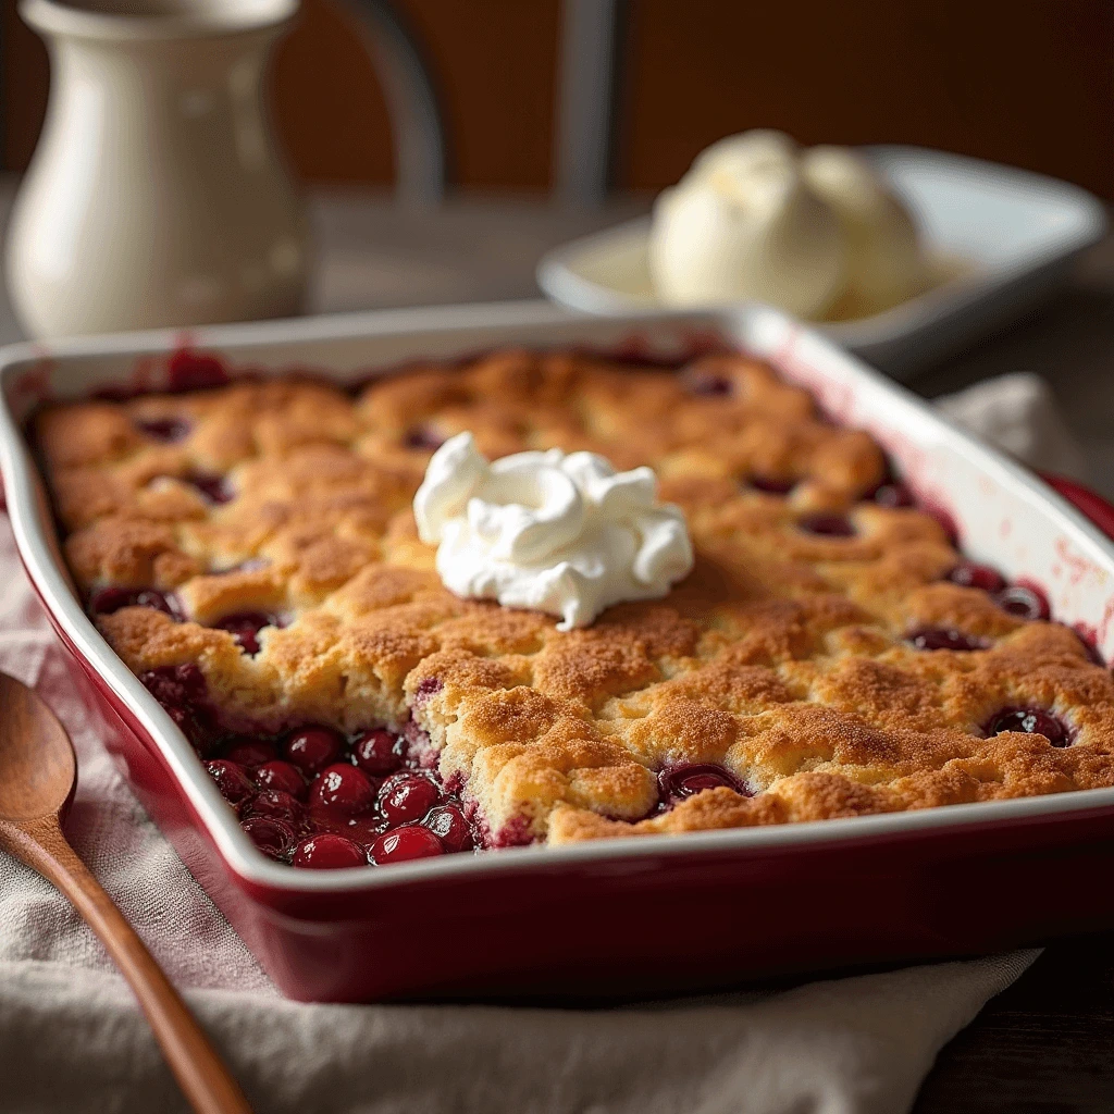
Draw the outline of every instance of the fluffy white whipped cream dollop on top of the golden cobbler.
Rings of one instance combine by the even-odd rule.
[[[657,501],[653,469],[617,472],[594,452],[489,462],[458,433],[433,453],[413,508],[450,592],[557,615],[558,631],[659,598],[693,567],[684,515]]]

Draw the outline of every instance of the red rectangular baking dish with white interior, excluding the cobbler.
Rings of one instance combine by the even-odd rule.
[[[501,345],[668,358],[723,344],[768,359],[834,418],[869,429],[921,498],[954,521],[970,557],[1039,583],[1058,618],[1085,626],[1114,654],[1114,544],[1038,478],[769,309],[600,319],[525,303],[0,353],[0,463],[31,582],[144,805],[285,994],[338,1001],[654,995],[988,950],[1114,921],[1114,896],[1096,885],[1114,861],[1114,789],[378,870],[271,862],[85,616],[20,432],[50,395],[157,389],[184,348],[234,369],[310,368],[345,379]],[[1093,501],[1089,509],[1114,528],[1114,508]]]

